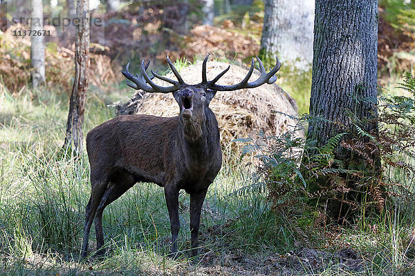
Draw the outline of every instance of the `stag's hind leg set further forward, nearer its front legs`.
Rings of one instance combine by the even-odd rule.
[[[109,183],[107,190],[105,190],[95,215],[95,234],[97,237],[98,255],[105,253],[103,248],[104,233],[102,231],[102,214],[104,213],[105,207],[127,192],[134,184],[136,184],[136,181],[128,172],[117,172],[116,175],[111,176],[111,182]]]

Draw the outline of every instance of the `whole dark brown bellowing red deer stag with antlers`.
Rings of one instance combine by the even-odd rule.
[[[176,117],[165,118],[150,115],[124,115],[104,122],[86,136],[86,150],[91,165],[91,197],[86,206],[82,255],[86,257],[89,232],[95,218],[95,233],[98,254],[104,253],[102,213],[104,208],[118,199],[129,188],[140,181],[153,182],[164,187],[167,209],[172,230],[172,248],[177,253],[177,236],[180,229],[178,218],[178,193],[185,189],[190,194],[190,229],[192,235],[192,256],[197,255],[201,208],[206,191],[222,165],[222,151],[219,144],[219,128],[214,113],[209,108],[216,91],[232,91],[241,88],[255,88],[264,83],[274,83],[275,73],[281,67],[277,59],[275,67],[267,74],[257,57],[261,72],[256,81],[248,82],[254,71],[252,58],[248,75],[237,84],[221,86],[216,84],[230,66],[212,81],[206,78],[205,57],[202,67],[202,82],[189,85],[174,68],[167,57],[167,63],[178,81],[157,74],[147,75],[147,66],[141,63],[141,75],[134,77],[128,71],[128,64],[122,72],[127,85],[146,92],[172,92],[180,108]],[[151,81],[154,77],[172,84],[158,86]]]

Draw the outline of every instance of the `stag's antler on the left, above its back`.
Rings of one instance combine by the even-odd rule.
[[[176,76],[178,81],[174,81],[173,79],[169,79],[167,77],[163,77],[157,74],[158,71],[154,72],[151,70],[151,74],[153,74],[152,77],[149,77],[147,75],[147,68],[149,68],[149,63],[147,63],[146,66],[144,66],[144,61],[141,61],[141,75],[138,76],[136,74],[136,77],[131,75],[130,72],[128,72],[129,63],[125,67],[125,71],[122,71],[122,75],[126,77],[129,81],[127,81],[127,86],[134,88],[134,89],[141,89],[146,92],[162,92],[162,93],[169,93],[174,92],[180,89],[180,87],[185,84],[185,81],[183,81],[181,75],[178,74],[176,68],[174,68],[172,61],[170,61],[169,56],[167,56],[167,63],[169,64],[170,68],[172,69],[172,72]],[[156,77],[157,79],[161,79],[163,81],[167,81],[168,83],[172,83],[172,86],[158,86],[156,83],[151,81],[151,79],[154,79]],[[131,82],[132,81],[132,82]]]

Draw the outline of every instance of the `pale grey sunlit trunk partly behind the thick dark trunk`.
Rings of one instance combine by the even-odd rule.
[[[313,60],[314,0],[265,0],[260,56],[299,68]]]

